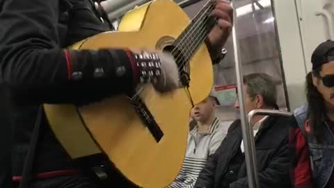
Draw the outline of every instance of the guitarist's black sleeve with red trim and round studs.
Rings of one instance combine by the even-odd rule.
[[[0,80],[20,101],[100,100],[134,87],[131,52],[60,47],[59,1],[0,1]]]

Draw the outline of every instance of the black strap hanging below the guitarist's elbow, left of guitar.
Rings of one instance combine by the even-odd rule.
[[[37,148],[38,138],[40,137],[40,126],[42,124],[42,112],[43,107],[40,105],[38,109],[38,115],[35,121],[35,126],[33,127],[33,135],[31,136],[31,141],[29,145],[28,154],[26,155],[26,160],[24,162],[22,171],[22,180],[19,183],[19,188],[28,188],[31,180],[33,179],[33,159],[35,158],[35,151]]]

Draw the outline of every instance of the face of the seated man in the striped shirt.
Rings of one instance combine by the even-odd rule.
[[[214,107],[214,100],[211,97],[207,97],[191,109],[191,117],[198,122],[205,123],[205,121],[212,115]]]

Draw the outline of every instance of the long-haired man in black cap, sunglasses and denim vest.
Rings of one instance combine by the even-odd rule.
[[[291,179],[296,188],[334,187],[334,41],[313,52],[307,104],[290,120]]]

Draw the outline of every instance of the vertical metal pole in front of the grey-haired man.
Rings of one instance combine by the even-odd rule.
[[[239,107],[240,107],[240,120],[242,128],[242,137],[244,139],[244,148],[245,148],[245,160],[246,160],[246,170],[248,178],[248,187],[250,188],[259,188],[259,181],[257,179],[257,165],[256,165],[256,155],[255,155],[255,143],[253,136],[253,129],[248,125],[248,118],[245,111],[244,104],[244,90],[243,90],[243,76],[242,76],[242,67],[239,61],[239,41],[237,40],[237,33],[235,31],[235,23],[237,21],[237,10],[233,6],[233,27],[232,27],[232,40],[233,40],[233,49],[234,49],[234,61],[235,61],[235,71],[237,74],[237,88],[239,95]]]

